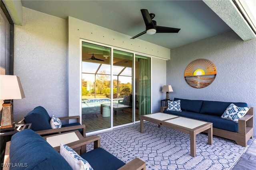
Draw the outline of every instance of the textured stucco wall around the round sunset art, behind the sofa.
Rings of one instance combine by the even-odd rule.
[[[186,66],[196,59],[208,59],[216,65],[217,76],[206,88],[192,88],[184,79]],[[229,31],[172,49],[166,82],[174,90],[172,98],[248,103],[254,107],[256,136],[256,39],[242,41]]]

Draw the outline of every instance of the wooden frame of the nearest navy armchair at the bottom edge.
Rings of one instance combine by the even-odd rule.
[[[100,137],[98,135],[92,135],[90,137],[86,137],[82,140],[78,140],[78,141],[74,141],[72,143],[67,144],[69,147],[71,147],[72,149],[76,149],[78,147],[82,147],[82,146],[86,146],[89,143],[94,143],[94,149],[100,147]],[[5,150],[5,155],[4,155],[4,165],[8,165],[10,163],[10,143],[11,141],[6,143],[6,150]],[[84,151],[83,149],[81,149],[79,151],[81,154],[83,154]],[[79,153],[78,152],[78,153]],[[4,166],[3,170],[9,170],[10,167],[8,166]],[[140,160],[139,158],[134,158],[133,160],[131,160],[130,162],[128,162],[127,164],[125,164],[124,166],[122,166],[121,168],[119,168],[118,170],[146,170],[146,163],[142,160]]]

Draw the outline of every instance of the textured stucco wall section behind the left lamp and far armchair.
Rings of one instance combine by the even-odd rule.
[[[67,20],[23,8],[23,26],[14,26],[14,75],[26,98],[14,100],[14,119],[36,106],[68,115]]]

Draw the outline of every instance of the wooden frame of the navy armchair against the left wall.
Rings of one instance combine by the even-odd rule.
[[[78,122],[80,122],[80,116],[70,116],[70,117],[59,117],[60,120],[68,120],[68,119],[77,119]],[[24,119],[18,122],[19,124],[25,124]],[[33,125],[32,125],[33,126]],[[51,133],[58,133],[58,132],[64,132],[64,131],[74,131],[78,129],[83,129],[83,137],[86,137],[85,135],[85,125],[76,125],[76,126],[70,126],[70,127],[61,127],[57,129],[47,129],[42,131],[36,131],[39,135],[47,135]]]

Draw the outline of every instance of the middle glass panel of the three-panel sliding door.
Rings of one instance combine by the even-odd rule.
[[[113,53],[113,126],[118,126],[133,122],[133,53]]]

